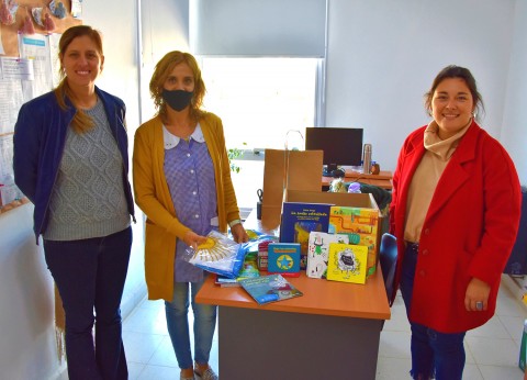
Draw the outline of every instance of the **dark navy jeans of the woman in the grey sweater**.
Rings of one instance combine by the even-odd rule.
[[[63,299],[70,380],[128,378],[120,304],[131,246],[131,227],[104,237],[44,241],[47,267]]]

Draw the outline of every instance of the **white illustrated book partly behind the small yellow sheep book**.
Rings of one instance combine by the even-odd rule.
[[[314,231],[310,233],[310,242],[307,246],[307,277],[326,278],[330,243],[348,244],[349,237],[346,234],[327,234],[325,232]]]

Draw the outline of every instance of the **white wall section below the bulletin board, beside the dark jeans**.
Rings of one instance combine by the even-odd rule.
[[[0,214],[0,379],[5,380],[59,373],[53,281],[32,220],[32,204]]]

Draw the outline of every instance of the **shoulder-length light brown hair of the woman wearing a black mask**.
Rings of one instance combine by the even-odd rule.
[[[154,104],[158,109],[158,114],[164,118],[167,112],[167,104],[162,100],[162,87],[170,72],[179,64],[187,64],[194,76],[194,93],[190,102],[190,118],[198,121],[203,114],[201,107],[203,105],[203,97],[205,96],[205,83],[201,77],[201,70],[195,58],[183,52],[173,51],[167,53],[156,65],[150,79],[150,96]]]

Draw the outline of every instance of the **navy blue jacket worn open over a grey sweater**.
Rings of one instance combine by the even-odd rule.
[[[126,135],[124,102],[96,87],[96,93],[104,104],[104,111],[113,136],[123,157],[123,185],[128,212],[134,222],[134,201],[127,179],[128,141]],[[77,112],[67,99],[64,111],[57,103],[55,93],[47,92],[22,105],[14,126],[14,182],[33,202],[33,230],[38,243],[47,226],[47,210],[63,157],[66,132]]]

